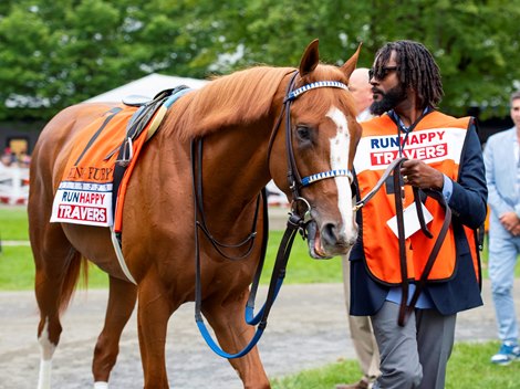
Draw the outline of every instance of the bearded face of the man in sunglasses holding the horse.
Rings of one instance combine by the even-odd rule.
[[[397,61],[395,52],[392,53],[388,63],[381,69],[373,67],[371,77],[372,93],[374,102],[371,105],[371,113],[382,115],[395,108],[407,98],[406,90],[397,75]]]

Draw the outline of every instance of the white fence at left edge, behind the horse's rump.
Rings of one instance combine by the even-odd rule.
[[[0,164],[0,203],[25,204],[29,197],[29,169]]]

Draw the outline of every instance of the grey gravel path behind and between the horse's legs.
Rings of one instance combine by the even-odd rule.
[[[264,288],[261,290],[261,292]],[[520,284],[516,285],[517,295]],[[63,334],[53,361],[53,387],[91,388],[91,362],[104,317],[106,291],[80,291],[63,318]],[[259,296],[261,302],[261,296]],[[489,284],[485,306],[462,313],[457,340],[496,338]],[[516,298],[520,303],[520,295]],[[260,303],[259,303],[260,305]],[[520,306],[518,306],[520,308]],[[35,339],[38,309],[32,292],[0,293],[0,388],[34,388],[39,347]],[[349,338],[341,284],[285,285],[272,308],[259,343],[269,377],[319,367],[339,358],[354,358]],[[241,388],[226,359],[214,354],[194,323],[194,305],[186,304],[169,323],[167,366],[175,388]],[[143,372],[138,354],[135,314],[121,341],[111,389],[139,388]]]

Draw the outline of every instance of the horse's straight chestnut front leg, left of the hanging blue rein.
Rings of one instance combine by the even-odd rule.
[[[165,344],[173,302],[158,276],[147,276],[139,284],[137,323],[145,389],[169,388]]]

